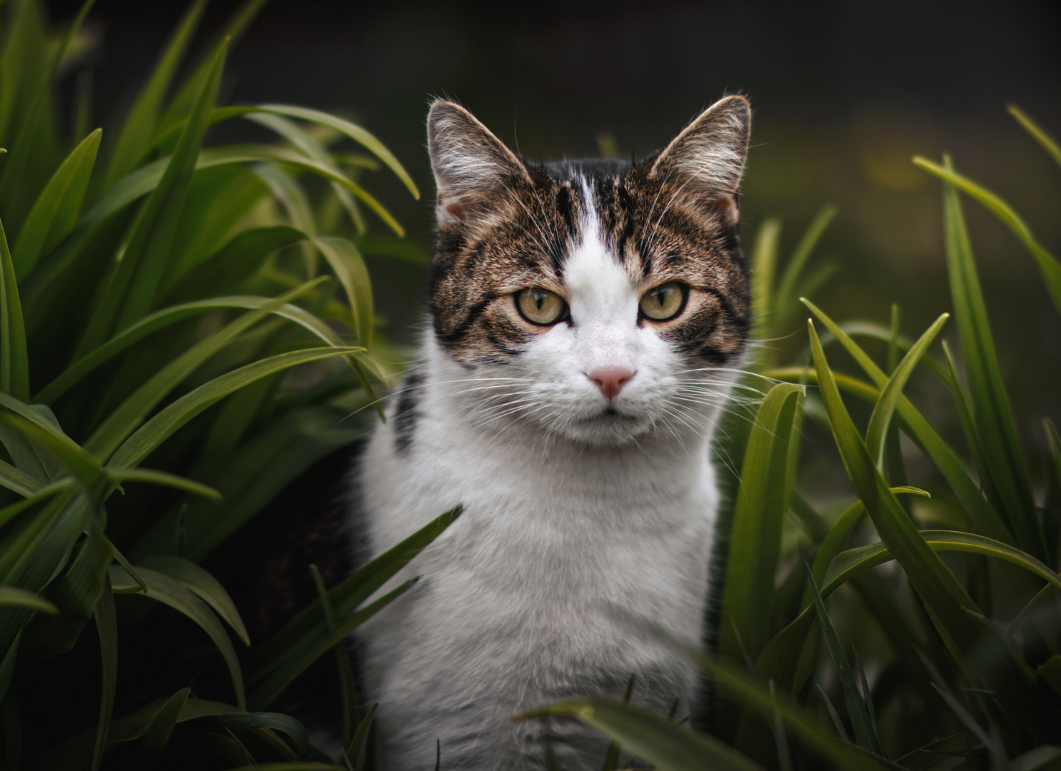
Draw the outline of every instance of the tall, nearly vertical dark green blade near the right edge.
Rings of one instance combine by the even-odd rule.
[[[950,160],[946,165],[950,167]],[[991,337],[969,231],[961,213],[958,191],[947,181],[943,183],[943,222],[955,321],[969,378],[973,418],[987,471],[1002,501],[1016,544],[1025,551],[1044,559],[1046,545]]]

